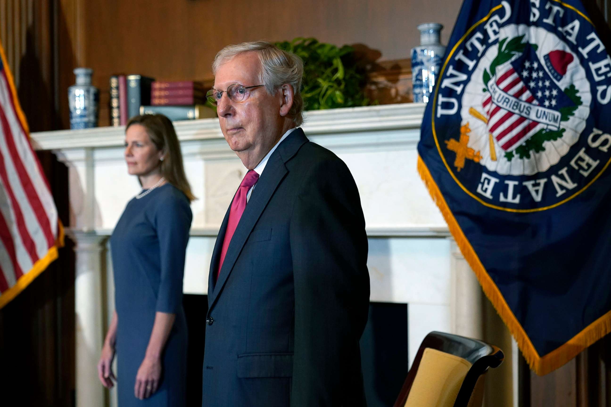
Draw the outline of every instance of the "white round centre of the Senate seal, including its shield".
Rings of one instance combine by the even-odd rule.
[[[464,79],[457,110],[460,126],[469,125],[467,147],[478,165],[503,176],[534,176],[580,143],[593,94],[581,54],[569,45],[544,27],[509,24],[497,43],[467,60],[464,76],[447,69],[453,84]],[[470,48],[463,52],[477,49]]]

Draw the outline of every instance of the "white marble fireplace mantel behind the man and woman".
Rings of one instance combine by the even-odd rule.
[[[481,290],[416,171],[424,108],[410,103],[319,110],[307,112],[302,126],[311,141],[331,149],[353,173],[369,237],[370,298],[408,304],[410,363],[432,330],[481,337]],[[174,126],[186,174],[199,198],[191,204],[184,290],[206,294],[214,240],[246,168],[222,137],[218,119],[177,121]],[[99,326],[108,323],[90,320],[101,318],[92,307],[108,304],[104,314],[111,315],[114,303],[110,254],[105,261],[100,254],[108,245],[103,237],[111,234],[125,204],[139,192],[123,160],[124,131],[32,134],[35,148],[54,151],[69,168],[70,236],[77,250],[100,242],[100,251],[78,252],[82,270],[77,270],[76,316],[82,332],[77,332],[77,355],[83,361],[83,355],[99,357]],[[84,378],[95,373],[87,371],[95,370],[87,363],[77,361],[77,377],[79,372]],[[98,384],[85,380],[77,383],[79,407],[97,391],[93,387]]]

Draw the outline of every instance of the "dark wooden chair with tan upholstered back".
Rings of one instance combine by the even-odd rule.
[[[420,344],[393,407],[481,407],[485,373],[504,357],[481,340],[431,332]]]

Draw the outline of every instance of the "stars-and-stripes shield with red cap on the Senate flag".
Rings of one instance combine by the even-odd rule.
[[[558,59],[559,55],[564,56],[566,52],[558,54],[558,51],[555,51],[551,54],[554,65],[560,73],[566,73],[566,65],[572,59],[566,57],[562,60]],[[558,63],[555,63],[556,60]],[[551,63],[547,66],[554,70]],[[556,76],[561,76],[560,73],[556,70],[552,72]],[[497,67],[494,84],[502,93],[524,102],[522,107],[531,105],[531,111],[534,111],[536,106],[540,106],[544,107],[540,110],[558,112],[560,107],[573,105],[573,101],[558,87],[531,46],[527,46],[520,57]],[[504,109],[503,105],[497,103],[497,99],[488,92],[484,96],[482,106],[488,115],[488,131],[504,151],[513,151],[540,129],[549,126],[549,123],[531,120],[527,114]],[[557,117],[560,117],[560,113],[557,113]]]

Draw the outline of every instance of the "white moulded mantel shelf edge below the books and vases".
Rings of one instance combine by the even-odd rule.
[[[402,103],[305,112],[308,135],[419,129],[426,104]],[[181,142],[222,139],[218,118],[175,121]],[[123,145],[125,126],[85,130],[43,131],[31,134],[35,149],[75,149]]]

